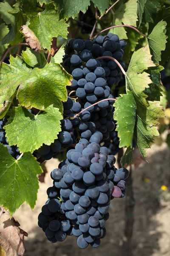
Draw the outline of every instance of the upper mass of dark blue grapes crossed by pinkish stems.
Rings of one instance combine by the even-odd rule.
[[[73,76],[68,87],[67,102],[63,102],[62,131],[51,145],[42,145],[38,153],[44,160],[49,160],[63,148],[69,148],[79,142],[79,137],[89,142],[100,143],[107,140],[114,143],[112,132],[115,129],[113,120],[113,99],[111,87],[121,79],[120,68],[115,61],[97,57],[113,57],[125,67],[122,61],[124,40],[109,33],[98,36],[95,40],[83,41],[71,39],[65,47],[63,65]],[[105,101],[99,102],[105,99]],[[92,106],[94,103],[97,105]],[[89,107],[89,108],[88,108]],[[74,116],[83,111],[79,116]],[[116,145],[118,148],[119,145]]]

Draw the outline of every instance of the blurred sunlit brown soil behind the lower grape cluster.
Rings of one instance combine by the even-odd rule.
[[[81,250],[75,236],[64,242],[52,244],[37,225],[37,216],[47,200],[46,189],[52,186],[50,172],[58,167],[58,160],[45,163],[45,183],[40,183],[34,211],[26,204],[14,214],[20,227],[28,232],[24,256],[170,256],[170,149],[167,144],[152,145],[147,150],[149,163],[142,163],[133,170],[135,198],[134,224],[131,246],[126,245],[125,203],[128,199],[115,198],[110,205],[110,218],[106,222],[107,235],[97,249]]]

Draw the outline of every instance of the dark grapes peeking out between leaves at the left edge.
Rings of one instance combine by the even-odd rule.
[[[3,129],[3,126],[6,124],[8,117],[9,116],[5,116],[3,119],[0,119],[0,144],[3,144],[5,147],[7,147],[8,152],[12,157],[18,159],[18,157],[20,156],[19,148],[14,145],[8,145],[8,139],[5,137],[6,132]]]

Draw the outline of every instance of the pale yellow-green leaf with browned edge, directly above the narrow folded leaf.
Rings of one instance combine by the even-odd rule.
[[[155,67],[151,55],[140,48],[133,53],[126,73],[126,90],[133,91],[136,102],[147,105],[147,95],[143,92],[152,83],[149,74],[143,72],[148,67]]]

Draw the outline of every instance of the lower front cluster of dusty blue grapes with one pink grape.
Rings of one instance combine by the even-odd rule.
[[[97,160],[97,161],[96,161]],[[125,196],[128,170],[116,169],[108,148],[85,139],[67,152],[67,159],[51,172],[53,186],[38,216],[38,225],[51,242],[77,236],[80,248],[100,245],[113,198]]]

